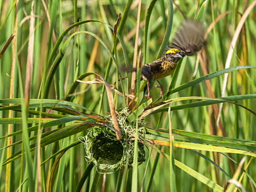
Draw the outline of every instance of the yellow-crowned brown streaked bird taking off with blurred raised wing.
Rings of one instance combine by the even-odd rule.
[[[141,68],[141,79],[147,80],[148,99],[150,96],[150,86],[153,81],[158,81],[174,73],[177,63],[180,59],[187,56],[192,56],[205,45],[205,28],[201,21],[195,19],[187,19],[181,28],[174,35],[171,46],[167,47],[165,54],[153,61],[145,64]],[[131,72],[132,70],[126,70]],[[133,71],[136,71],[134,68]],[[163,86],[158,81],[161,88],[161,97],[163,98]]]

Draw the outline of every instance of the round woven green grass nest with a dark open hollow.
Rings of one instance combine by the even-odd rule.
[[[125,164],[133,166],[136,121],[129,122],[128,115],[128,108],[119,111],[117,115],[121,140],[116,139],[111,115],[104,117],[106,124],[95,126],[89,130],[87,135],[79,137],[79,140],[84,143],[86,161],[93,162],[99,173],[103,173],[102,171],[111,173]],[[144,138],[145,135],[144,124],[144,122],[139,122],[138,125],[140,138]],[[143,162],[145,162],[144,144],[138,140],[138,165]]]

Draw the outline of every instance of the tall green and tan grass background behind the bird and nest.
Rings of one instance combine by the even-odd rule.
[[[162,113],[157,111],[145,117],[146,126],[152,129],[173,128],[225,136],[225,142],[237,145],[233,147],[243,151],[241,153],[222,153],[224,146],[217,153],[203,147],[195,150],[193,146],[178,146],[178,143],[174,143],[174,148],[160,145],[157,148],[162,153],[157,148],[146,149],[147,161],[138,169],[125,167],[112,174],[99,174],[95,167],[84,160],[84,146],[77,142],[77,137],[86,134],[87,127],[77,129],[70,135],[68,132],[61,133],[63,137],[59,134],[51,137],[51,140],[43,133],[50,134],[62,127],[76,125],[75,120],[68,123],[62,119],[62,122],[47,128],[41,127],[53,119],[68,117],[66,114],[75,116],[84,112],[108,115],[109,101],[104,84],[92,82],[95,78],[100,79],[93,74],[82,79],[92,84],[82,83],[75,89],[75,95],[69,99],[72,108],[66,106],[68,103],[63,100],[75,79],[84,73],[97,73],[108,84],[114,84],[127,76],[120,72],[121,66],[132,66],[134,61],[142,61],[143,64],[154,61],[161,56],[168,41],[170,43],[183,23],[183,16],[198,18],[210,29],[207,45],[199,55],[184,58],[179,65],[179,73],[161,80],[164,93],[224,68],[255,67],[255,2],[0,1],[0,48],[7,45],[10,35],[15,35],[8,48],[0,54],[0,163],[3,164],[0,167],[0,191],[80,191],[81,188],[82,191],[243,191],[243,187],[246,191],[255,191],[256,70],[253,67],[229,70],[226,82],[224,75],[219,74],[210,77],[210,80],[203,79],[193,83],[193,86],[181,88],[179,92],[170,92],[173,94],[165,99],[185,99],[177,99],[175,104],[170,104],[172,111],[169,113],[169,108],[165,106]],[[140,23],[136,39],[138,8]],[[151,10],[152,14],[147,17]],[[122,19],[117,28],[117,38],[112,29],[119,13]],[[246,14],[248,17],[245,17]],[[235,33],[243,21],[243,28]],[[237,34],[239,36],[236,37]],[[136,42],[138,55],[134,59]],[[122,84],[116,84],[116,88],[126,94],[130,94],[131,74],[128,77],[122,80]],[[175,81],[172,77],[175,77]],[[163,102],[158,98],[159,94],[158,88],[152,88],[155,103]],[[192,107],[197,101],[189,98],[192,96],[197,99],[226,96],[228,101],[246,108],[232,103],[223,103],[222,106],[217,101],[212,103],[214,105]],[[139,98],[138,105],[147,101],[142,92]],[[30,100],[28,104],[29,99],[35,99],[35,102]],[[44,102],[40,104],[39,99],[47,104],[43,106]],[[114,101],[116,109],[127,106],[120,95],[114,94]],[[9,104],[21,106],[6,108]],[[35,108],[43,107],[47,108],[48,115],[42,110],[42,113],[36,113]],[[34,129],[28,129],[31,127]],[[41,140],[42,137],[46,138],[46,143]],[[208,141],[207,138],[205,140]],[[200,143],[208,144],[206,141]],[[195,140],[190,142],[199,143]],[[214,142],[217,145],[219,138]],[[170,155],[172,160],[163,154]],[[242,167],[246,172],[238,166],[243,157],[245,162]],[[185,173],[185,166],[181,166],[183,169],[174,167],[174,159],[196,173]],[[193,175],[197,173],[209,180]],[[228,180],[231,178],[241,186],[237,188],[235,184],[230,184]],[[208,184],[210,180],[213,185]]]

